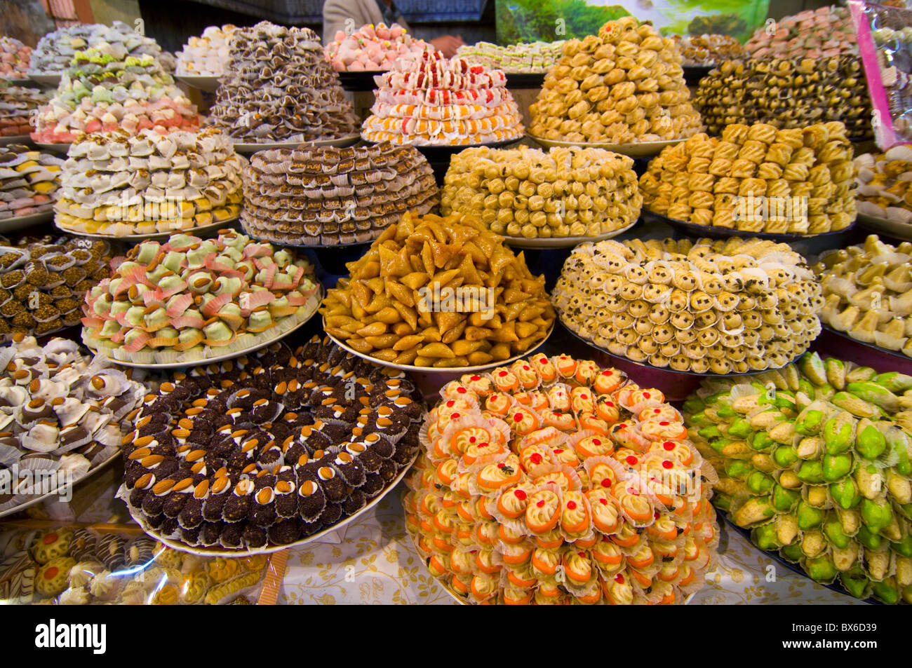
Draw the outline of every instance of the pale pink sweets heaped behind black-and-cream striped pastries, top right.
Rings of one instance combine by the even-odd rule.
[[[757,28],[744,48],[751,57],[819,58],[858,53],[852,16],[845,7],[824,6]]]

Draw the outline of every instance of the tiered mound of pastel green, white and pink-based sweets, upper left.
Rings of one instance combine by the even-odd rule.
[[[101,44],[78,51],[60,79],[57,94],[38,114],[32,139],[68,143],[86,132],[151,129],[165,135],[195,132],[202,122],[196,107],[151,56],[124,56]]]

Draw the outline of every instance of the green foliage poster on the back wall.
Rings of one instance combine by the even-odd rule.
[[[746,41],[766,19],[770,0],[496,0],[497,41],[582,39],[606,21],[634,15],[663,35],[718,33]]]

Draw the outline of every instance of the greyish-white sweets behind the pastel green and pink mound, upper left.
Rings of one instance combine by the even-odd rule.
[[[167,51],[162,51],[158,42],[141,35],[132,26],[114,21],[110,26],[79,24],[47,33],[38,40],[38,46],[32,52],[29,74],[62,74],[70,67],[73,57],[79,51],[103,44],[122,52],[124,57],[150,56],[161,63],[166,72],[174,71],[174,57]]]

